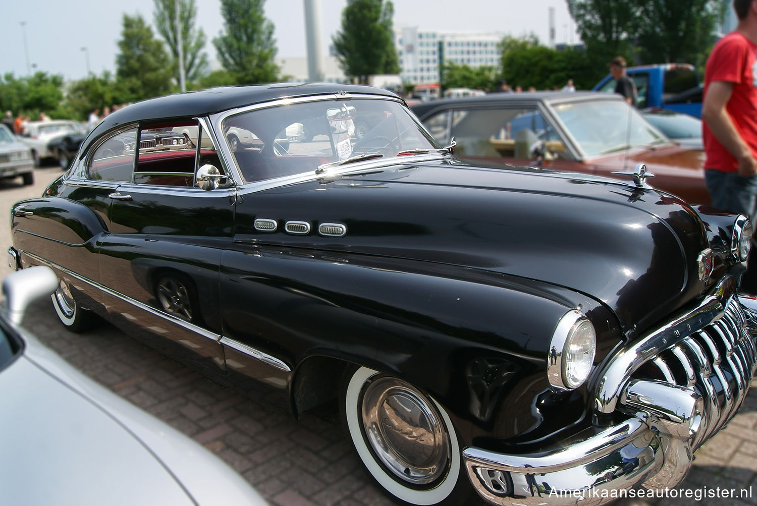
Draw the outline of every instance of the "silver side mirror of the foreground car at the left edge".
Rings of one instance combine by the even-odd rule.
[[[49,267],[37,265],[12,272],[2,281],[5,315],[11,324],[19,325],[31,303],[51,295],[55,290],[58,290],[58,276]]]

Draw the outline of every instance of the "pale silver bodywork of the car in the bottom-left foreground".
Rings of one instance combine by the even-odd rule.
[[[0,372],[7,504],[265,504],[199,445],[23,338]]]

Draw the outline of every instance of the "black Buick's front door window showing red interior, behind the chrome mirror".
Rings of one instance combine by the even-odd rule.
[[[194,186],[198,131],[197,120],[143,126],[139,131],[134,182],[140,185]]]

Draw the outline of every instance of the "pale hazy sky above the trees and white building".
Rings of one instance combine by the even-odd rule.
[[[347,0],[319,0],[319,4],[322,50],[326,55],[332,36],[341,28],[341,11]],[[204,30],[205,49],[212,61],[216,59],[212,40],[223,30],[220,0],[195,0],[195,5],[197,25]],[[394,27],[512,36],[535,33],[547,44],[550,7],[555,9],[556,42],[578,42],[565,0],[394,0]],[[266,0],[264,8],[275,26],[276,57],[306,56],[303,0]],[[141,14],[152,23],[154,2],[0,0],[0,12],[5,26],[0,75],[13,73],[20,77],[42,70],[70,80],[86,77],[88,57],[92,73],[114,72],[123,14]]]

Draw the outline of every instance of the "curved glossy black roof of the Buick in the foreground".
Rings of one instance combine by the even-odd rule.
[[[397,95],[372,86],[347,85],[338,83],[292,83],[266,84],[254,86],[226,86],[208,88],[197,92],[177,93],[165,97],[150,98],[145,101],[123,107],[105,116],[92,134],[85,141],[84,150],[92,139],[114,126],[136,123],[139,121],[162,120],[207,116],[222,110],[263,104],[279,98],[298,98],[311,95],[329,95],[339,92],[383,95],[397,98]]]

